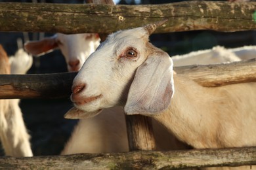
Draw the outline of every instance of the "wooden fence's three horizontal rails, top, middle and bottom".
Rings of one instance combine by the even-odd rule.
[[[0,3],[0,31],[111,33],[163,18],[169,21],[156,33],[202,29],[244,31],[256,29],[255,11],[255,2],[185,1],[136,6]],[[175,67],[175,71],[189,74],[202,86],[256,81],[255,59],[227,65]],[[0,98],[67,97],[75,75],[1,75]],[[256,165],[255,147],[0,158],[0,169],[177,169],[239,165]]]

